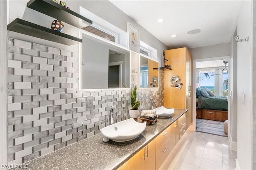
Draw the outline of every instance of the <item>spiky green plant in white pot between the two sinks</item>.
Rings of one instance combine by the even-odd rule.
[[[131,100],[132,108],[129,109],[129,115],[132,118],[138,118],[140,100],[137,100],[137,85],[135,85],[133,90],[131,91],[131,99],[130,100]]]

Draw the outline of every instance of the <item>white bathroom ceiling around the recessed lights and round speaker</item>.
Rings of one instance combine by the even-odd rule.
[[[241,0],[110,0],[170,49],[228,43]],[[158,19],[164,19],[158,23]],[[189,35],[188,31],[201,29]],[[171,37],[171,35],[177,35]]]

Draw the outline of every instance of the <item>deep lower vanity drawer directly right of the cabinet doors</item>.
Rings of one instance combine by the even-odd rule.
[[[164,160],[170,154],[170,140],[166,141],[164,145],[156,152],[156,169],[159,169]]]

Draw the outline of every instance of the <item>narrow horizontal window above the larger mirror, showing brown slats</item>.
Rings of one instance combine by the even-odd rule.
[[[93,33],[95,35],[98,35],[100,37],[103,37],[104,39],[107,39],[109,41],[112,41],[112,42],[116,43],[116,37],[117,36],[114,35],[114,33],[110,33],[110,32],[108,32],[106,30],[103,30],[103,29],[101,29],[99,27],[92,26],[92,25],[89,25],[89,26],[84,27],[82,29],[84,29],[85,31],[88,31],[90,33]]]

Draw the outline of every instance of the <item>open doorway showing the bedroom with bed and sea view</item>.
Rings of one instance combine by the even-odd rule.
[[[196,131],[228,137],[228,77],[228,59],[196,62]]]

